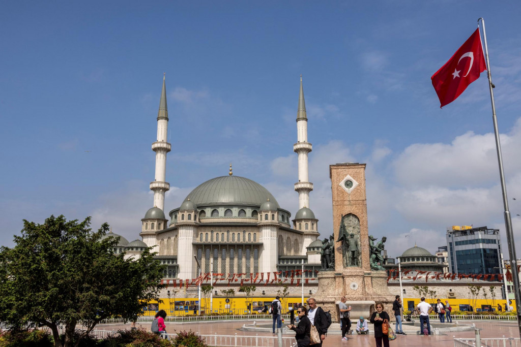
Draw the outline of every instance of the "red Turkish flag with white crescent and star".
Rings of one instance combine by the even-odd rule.
[[[440,99],[440,108],[460,96],[485,70],[487,67],[478,28],[452,58],[430,78]]]

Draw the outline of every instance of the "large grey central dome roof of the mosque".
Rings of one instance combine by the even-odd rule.
[[[275,208],[279,208],[277,200],[266,188],[251,179],[230,175],[209,179],[192,190],[184,201],[188,201],[188,199],[194,202],[197,207],[208,205],[253,205],[260,207],[269,199]]]

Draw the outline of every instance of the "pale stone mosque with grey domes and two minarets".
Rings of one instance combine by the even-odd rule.
[[[245,177],[229,174],[215,177],[193,189],[181,205],[165,214],[168,108],[165,77],[157,114],[155,177],[150,183],[154,192],[153,207],[141,220],[142,240],[128,242],[120,237],[116,252],[139,257],[146,247],[158,252],[156,258],[166,265],[164,279],[193,279],[201,273],[250,274],[302,269],[313,277],[320,269],[318,219],[309,209],[307,115],[302,76],[296,117],[298,155],[299,210],[280,207],[277,199],[262,185]],[[202,268],[202,271],[199,265]]]

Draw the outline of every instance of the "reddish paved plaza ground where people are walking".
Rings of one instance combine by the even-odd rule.
[[[175,332],[181,330],[194,330],[202,335],[209,335],[217,333],[218,335],[248,335],[254,336],[272,336],[271,332],[251,332],[239,330],[243,324],[252,324],[253,321],[235,321],[235,322],[203,322],[203,323],[166,323],[168,332]],[[263,324],[267,321],[263,321]],[[462,322],[464,324],[475,324],[477,328],[481,329],[481,338],[501,338],[501,337],[519,337],[519,332],[516,322],[483,322],[472,321]],[[138,327],[143,327],[150,330],[150,323],[138,324]],[[97,329],[118,330],[129,329],[130,324],[111,324],[100,325]],[[373,326],[369,324],[369,329]],[[450,331],[442,332],[446,335],[432,335],[431,337],[421,337],[416,335],[416,329],[413,327],[405,327],[404,331],[407,336],[398,336],[396,341],[391,341],[391,345],[395,346],[436,346],[436,347],[453,347],[453,338],[474,338],[474,330],[472,331]],[[341,341],[340,326],[333,323],[329,329],[328,337],[326,338],[324,347],[337,346],[374,346],[375,339],[373,335],[352,335],[349,336],[349,341]],[[284,334],[284,337],[292,336],[291,333]]]

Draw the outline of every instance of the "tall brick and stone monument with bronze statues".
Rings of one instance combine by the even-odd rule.
[[[384,310],[393,316],[390,309],[394,297],[387,288],[387,272],[381,266],[386,239],[383,237],[375,244],[376,239],[368,233],[365,166],[358,163],[329,166],[334,235],[330,242],[327,239],[322,242],[322,250],[333,248],[333,252],[322,254],[325,259],[314,297],[337,321],[337,302],[343,295],[352,306],[351,317],[369,317],[375,302],[383,302]],[[328,266],[326,258],[334,259],[334,264]]]

